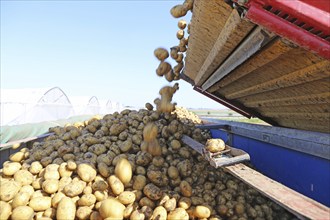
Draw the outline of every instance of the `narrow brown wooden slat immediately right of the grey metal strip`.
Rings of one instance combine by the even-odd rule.
[[[222,87],[229,85],[230,83],[242,78],[245,75],[253,72],[254,70],[261,68],[267,63],[275,60],[283,53],[292,50],[292,47],[284,43],[282,40],[276,40],[271,43],[266,49],[255,54],[252,58],[247,60],[241,66],[236,68],[227,77],[213,85],[208,89],[209,92],[214,92]]]

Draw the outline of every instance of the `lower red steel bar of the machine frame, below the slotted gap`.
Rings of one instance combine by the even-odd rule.
[[[320,56],[330,59],[330,43],[294,24],[266,11],[261,5],[250,3],[246,18],[275,34],[291,40],[303,48],[314,51]]]

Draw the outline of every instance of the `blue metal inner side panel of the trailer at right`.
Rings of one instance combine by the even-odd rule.
[[[211,129],[212,137],[250,154],[251,163],[264,175],[330,206],[329,160],[252,138]],[[231,140],[228,137],[231,136]]]

